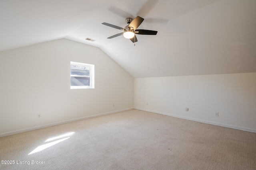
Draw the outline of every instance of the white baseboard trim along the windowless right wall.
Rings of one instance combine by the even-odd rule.
[[[142,110],[142,111],[148,111],[148,112],[157,113],[157,114],[161,114],[161,115],[167,115],[167,116],[172,116],[172,117],[178,117],[178,118],[181,118],[181,119],[187,119],[187,120],[192,120],[192,121],[198,121],[198,122],[207,123],[207,124],[210,124],[210,125],[217,125],[217,126],[228,127],[228,128],[232,128],[232,129],[238,129],[238,130],[241,130],[241,131],[248,131],[248,132],[256,133],[256,129],[250,129],[250,128],[246,128],[246,127],[239,127],[239,126],[234,126],[234,125],[227,125],[227,124],[217,123],[217,122],[212,122],[212,121],[204,121],[204,120],[201,120],[201,119],[194,119],[194,118],[191,118],[191,117],[173,115],[173,114],[170,114],[170,113],[163,113],[163,112],[160,112],[160,111],[153,111],[153,110],[142,109],[142,108],[138,108],[138,107],[134,107],[134,109]]]

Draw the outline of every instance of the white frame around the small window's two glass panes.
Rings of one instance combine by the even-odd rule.
[[[80,75],[72,75],[71,74],[71,65],[76,66],[86,66],[90,68],[90,75],[89,76],[80,76]],[[89,84],[90,86],[71,86],[71,77],[89,77]],[[74,61],[70,61],[70,89],[87,89],[87,88],[94,88],[94,64],[86,64],[86,63],[78,63]]]

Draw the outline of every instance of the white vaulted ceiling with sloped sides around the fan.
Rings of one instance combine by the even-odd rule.
[[[0,51],[66,38],[136,78],[256,72],[256,0],[0,0],[0,16]],[[101,23],[136,16],[158,34],[107,39],[122,31]]]

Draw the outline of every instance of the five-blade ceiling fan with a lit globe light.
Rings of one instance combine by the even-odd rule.
[[[125,21],[128,25],[126,25],[124,28],[118,27],[116,25],[112,25],[110,23],[102,23],[103,25],[107,25],[112,28],[120,29],[124,32],[118,33],[116,35],[112,35],[111,37],[108,37],[108,39],[118,37],[120,35],[124,35],[125,38],[130,39],[133,43],[137,42],[137,37],[135,34],[142,34],[142,35],[156,35],[157,31],[147,30],[147,29],[137,29],[140,24],[143,22],[144,18],[141,18],[140,16],[137,16],[132,20],[132,18],[126,18]]]

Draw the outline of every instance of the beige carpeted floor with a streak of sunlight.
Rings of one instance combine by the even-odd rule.
[[[132,109],[2,137],[0,159],[1,170],[256,170],[256,133]]]

